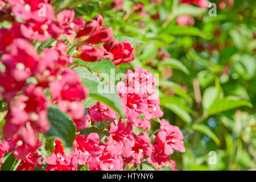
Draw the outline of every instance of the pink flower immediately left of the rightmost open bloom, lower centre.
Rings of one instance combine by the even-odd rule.
[[[146,133],[141,133],[135,136],[135,144],[132,148],[132,158],[135,160],[136,164],[141,164],[144,157],[150,156],[153,152],[153,145],[150,138]]]

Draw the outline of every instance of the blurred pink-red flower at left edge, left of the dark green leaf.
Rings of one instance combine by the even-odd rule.
[[[7,122],[14,125],[26,126],[28,130],[45,133],[49,130],[48,107],[49,102],[44,98],[43,89],[30,84],[24,89],[24,95],[10,102],[10,110],[6,119]],[[21,133],[21,131],[18,131],[18,133]],[[32,138],[28,139],[32,140]],[[33,145],[31,142],[29,144]]]

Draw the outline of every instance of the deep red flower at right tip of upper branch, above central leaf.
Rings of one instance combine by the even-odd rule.
[[[104,44],[104,48],[113,54],[113,63],[115,65],[130,63],[135,59],[134,48],[131,47],[127,40],[118,43],[116,39],[112,39]]]

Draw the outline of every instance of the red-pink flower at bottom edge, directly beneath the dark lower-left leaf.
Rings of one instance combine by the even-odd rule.
[[[46,159],[48,167],[46,171],[76,171],[77,170],[77,152],[76,140],[73,142],[73,151],[69,156],[64,153],[63,144],[59,139],[55,139],[55,148],[51,156]]]

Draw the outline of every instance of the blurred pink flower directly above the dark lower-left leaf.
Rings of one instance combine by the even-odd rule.
[[[53,100],[57,101],[60,111],[67,112],[73,119],[84,116],[82,100],[88,89],[82,86],[81,79],[73,69],[65,69],[55,81],[49,83]]]

